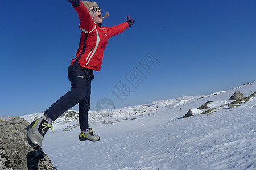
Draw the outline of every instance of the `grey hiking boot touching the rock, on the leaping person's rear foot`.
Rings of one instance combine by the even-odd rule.
[[[52,129],[52,122],[47,121],[45,115],[27,126],[27,141],[32,148],[40,149],[44,135],[46,135],[49,128]]]

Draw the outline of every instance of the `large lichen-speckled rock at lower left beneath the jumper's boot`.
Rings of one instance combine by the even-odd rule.
[[[20,117],[0,117],[0,169],[55,169],[42,149],[28,145],[28,124]]]

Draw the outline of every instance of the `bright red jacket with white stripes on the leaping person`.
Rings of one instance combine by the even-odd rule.
[[[82,30],[82,33],[76,58],[72,59],[71,65],[73,63],[79,63],[82,67],[100,71],[103,51],[108,44],[108,39],[125,31],[129,27],[129,24],[124,22],[110,28],[99,27],[93,21],[92,16],[90,16],[82,2],[79,7],[74,8],[79,15],[79,28]]]

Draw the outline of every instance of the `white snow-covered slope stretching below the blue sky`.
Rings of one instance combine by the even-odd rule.
[[[77,115],[62,116],[42,149],[61,170],[256,169],[256,96],[228,109],[225,104],[236,91],[247,97],[256,91],[256,82],[210,95],[90,112],[98,142],[80,142]],[[216,109],[183,118],[207,101]],[[22,117],[31,122],[40,114]]]

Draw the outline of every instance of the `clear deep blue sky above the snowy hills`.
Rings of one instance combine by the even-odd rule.
[[[256,79],[256,1],[97,3],[110,14],[103,26],[125,22],[127,14],[135,23],[109,39],[101,71],[94,72],[92,111],[102,98],[121,108]],[[0,19],[0,116],[43,112],[70,90],[77,14],[67,1],[14,0],[1,2]]]

